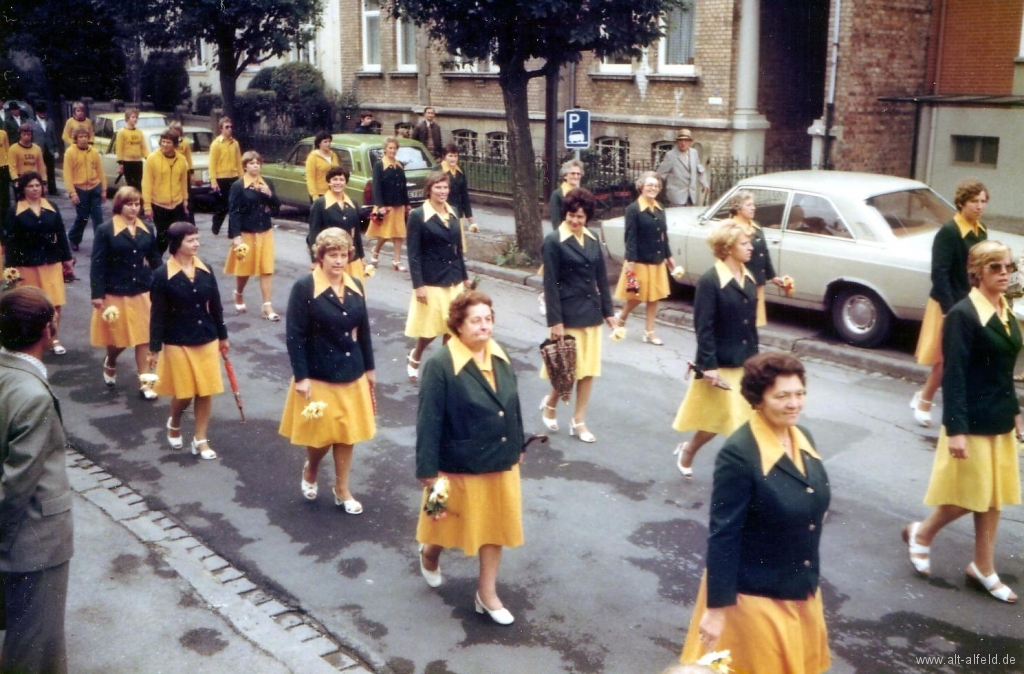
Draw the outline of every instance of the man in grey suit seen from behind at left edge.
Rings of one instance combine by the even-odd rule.
[[[68,671],[72,491],[60,408],[41,361],[52,339],[53,305],[40,289],[16,288],[0,297],[3,672]]]

